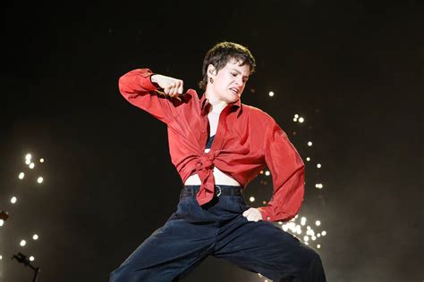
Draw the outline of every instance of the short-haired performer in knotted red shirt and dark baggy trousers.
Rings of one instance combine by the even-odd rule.
[[[310,246],[273,222],[293,219],[304,194],[304,163],[269,114],[242,104],[256,62],[233,42],[213,46],[199,95],[182,79],[137,69],[119,79],[131,104],[166,124],[182,178],[176,211],[110,274],[111,282],[179,281],[209,255],[273,281],[326,281]],[[273,195],[250,207],[243,192],[265,167]]]

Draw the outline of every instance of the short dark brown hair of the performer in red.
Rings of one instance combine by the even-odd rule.
[[[212,64],[216,71],[220,71],[231,59],[237,60],[240,62],[240,65],[247,63],[250,67],[250,74],[255,71],[255,58],[250,54],[247,47],[233,42],[220,42],[213,46],[205,55],[202,68],[203,79],[199,82],[199,87],[206,89],[208,85],[207,72],[209,64]]]

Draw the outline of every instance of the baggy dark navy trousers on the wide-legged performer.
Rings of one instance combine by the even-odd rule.
[[[221,186],[222,189],[227,187]],[[208,255],[276,281],[326,281],[318,253],[269,221],[249,221],[242,195],[219,195],[200,206],[181,196],[176,211],[123,264],[110,282],[172,282]]]

